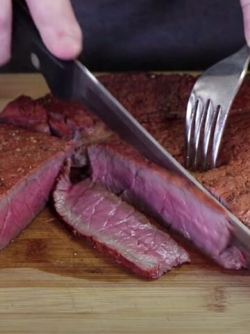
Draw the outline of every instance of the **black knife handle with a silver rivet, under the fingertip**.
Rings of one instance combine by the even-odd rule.
[[[13,1],[13,27],[12,27],[12,56],[19,58],[22,52],[24,59],[41,72],[49,88],[56,95],[61,95],[62,82],[70,73],[67,71],[69,61],[62,61],[53,56],[44,45],[40,33],[36,28],[28,7],[22,0]]]

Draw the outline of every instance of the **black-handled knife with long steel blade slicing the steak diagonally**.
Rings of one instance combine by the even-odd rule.
[[[193,186],[222,207],[228,221],[233,226],[233,243],[241,248],[250,269],[250,230],[234,216],[222,203],[207,191],[163,146],[133,118],[122,104],[98,81],[78,60],[61,61],[44,46],[40,34],[33,24],[24,3],[14,1],[14,26],[12,53],[20,47],[33,67],[41,72],[51,92],[63,100],[74,100],[91,109],[126,143],[138,150],[144,157],[159,166],[178,173]],[[25,38],[25,39],[24,39]]]

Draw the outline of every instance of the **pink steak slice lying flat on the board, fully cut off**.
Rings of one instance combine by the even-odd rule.
[[[188,253],[131,205],[91,180],[72,184],[69,164],[53,192],[56,211],[76,234],[147,278],[158,278]]]

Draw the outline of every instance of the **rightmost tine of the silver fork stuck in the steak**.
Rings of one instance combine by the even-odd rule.
[[[217,106],[218,116],[215,125],[215,134],[213,136],[213,148],[212,148],[212,167],[215,168],[217,164],[217,157],[219,154],[219,148],[222,143],[222,135],[226,126],[227,115],[222,113],[222,107]]]

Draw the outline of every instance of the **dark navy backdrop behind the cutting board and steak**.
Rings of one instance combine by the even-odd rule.
[[[93,71],[203,70],[244,45],[239,0],[72,0]],[[2,72],[29,72],[20,56]]]

